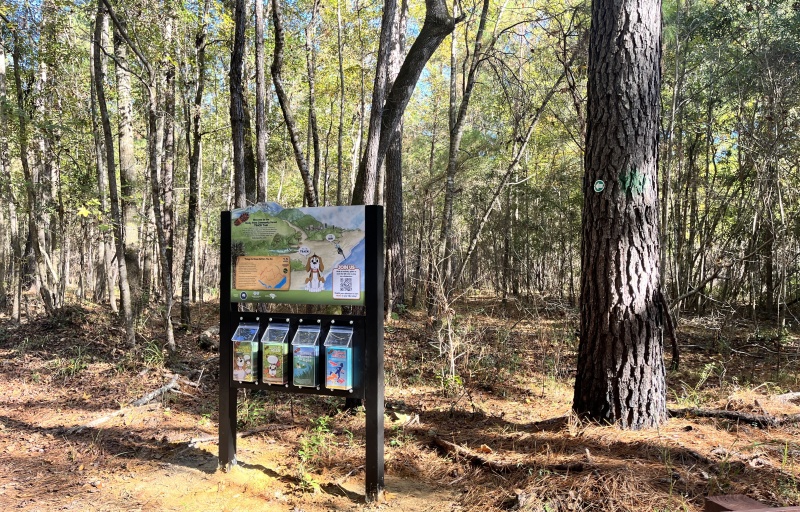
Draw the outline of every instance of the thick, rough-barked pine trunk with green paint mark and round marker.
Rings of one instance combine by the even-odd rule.
[[[656,187],[660,58],[660,1],[593,2],[573,408],[630,429],[666,419]],[[598,180],[604,188],[595,187]]]

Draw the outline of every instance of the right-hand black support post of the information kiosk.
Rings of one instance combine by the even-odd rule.
[[[383,493],[383,206],[366,206],[366,500]]]

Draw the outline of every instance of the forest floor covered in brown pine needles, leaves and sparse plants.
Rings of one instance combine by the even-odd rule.
[[[627,432],[570,414],[572,309],[469,301],[453,316],[455,378],[425,317],[405,312],[386,326],[386,493],[365,504],[364,414],[331,398],[240,391],[239,464],[218,469],[219,355],[200,343],[217,305],[193,321],[168,358],[154,316],[135,348],[106,307],[0,316],[0,509],[699,511],[734,493],[800,505],[800,427],[758,422],[800,412],[779,396],[800,390],[794,330],[682,319],[668,400],[684,412]]]

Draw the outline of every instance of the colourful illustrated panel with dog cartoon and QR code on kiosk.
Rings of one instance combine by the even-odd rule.
[[[231,300],[363,305],[364,229],[363,206],[233,210]]]

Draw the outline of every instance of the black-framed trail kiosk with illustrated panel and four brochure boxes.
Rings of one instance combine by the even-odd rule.
[[[383,492],[383,207],[222,212],[219,462],[236,464],[237,391],[361,398],[366,500]],[[270,313],[240,311],[247,302]],[[289,304],[358,306],[298,314]]]

